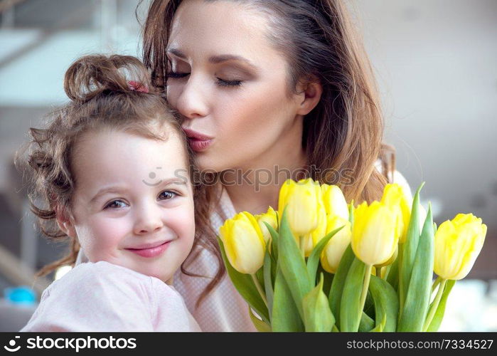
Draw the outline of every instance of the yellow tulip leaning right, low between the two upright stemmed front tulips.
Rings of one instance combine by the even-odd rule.
[[[348,219],[343,219],[340,216],[328,216],[326,224],[326,234],[343,226],[336,234],[331,237],[328,244],[324,247],[321,253],[321,266],[329,273],[336,273],[338,265],[342,259],[343,253],[351,243],[351,223]]]

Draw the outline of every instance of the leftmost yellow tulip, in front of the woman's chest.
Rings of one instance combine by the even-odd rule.
[[[262,267],[266,243],[255,217],[247,211],[228,219],[219,229],[226,256],[240,273],[253,274]]]

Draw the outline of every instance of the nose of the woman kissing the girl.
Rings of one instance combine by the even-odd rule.
[[[203,90],[201,80],[190,75],[178,95],[176,110],[188,119],[205,117],[208,114],[206,96],[207,92]]]

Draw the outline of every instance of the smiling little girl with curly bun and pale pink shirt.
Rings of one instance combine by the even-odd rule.
[[[133,57],[80,58],[64,88],[72,101],[31,129],[31,201],[55,223],[43,232],[89,261],[46,288],[21,331],[200,331],[170,286],[196,241],[193,159],[176,118]]]

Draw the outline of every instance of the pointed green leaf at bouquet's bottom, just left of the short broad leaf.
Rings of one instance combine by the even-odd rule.
[[[304,323],[299,316],[299,310],[296,308],[292,293],[279,267],[277,267],[274,281],[271,321],[273,331],[304,331]]]

